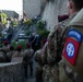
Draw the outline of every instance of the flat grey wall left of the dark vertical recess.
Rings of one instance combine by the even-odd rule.
[[[40,0],[23,0],[23,12],[28,19],[40,13]]]

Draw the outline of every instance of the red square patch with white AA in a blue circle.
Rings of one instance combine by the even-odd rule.
[[[66,40],[66,46],[63,50],[63,57],[71,63],[75,63],[75,59],[79,51],[79,42],[72,39],[71,37],[68,37]]]

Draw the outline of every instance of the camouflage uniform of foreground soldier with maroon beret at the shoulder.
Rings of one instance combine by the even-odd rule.
[[[58,62],[60,61],[61,54],[62,54],[60,51],[60,49],[63,48],[63,44],[66,40],[67,27],[69,25],[69,22],[72,20],[72,17],[75,14],[73,14],[68,20],[60,22],[58,25],[55,26],[52,32],[48,35],[48,46],[47,46],[48,67],[44,71],[44,74],[45,74],[44,82],[61,82],[60,78],[59,78],[60,73],[59,73],[59,66],[58,66]],[[63,35],[63,33],[64,33],[64,35]],[[60,45],[58,45],[60,39],[62,39],[62,42]],[[51,71],[54,71],[54,72],[51,72]],[[70,81],[68,81],[68,82],[70,82]]]

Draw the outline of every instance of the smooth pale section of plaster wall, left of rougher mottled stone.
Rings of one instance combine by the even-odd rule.
[[[58,16],[58,7],[56,2],[48,2],[45,7],[45,11],[42,19],[43,21],[47,22],[46,28],[48,31],[51,31],[55,24],[58,23],[57,16]]]

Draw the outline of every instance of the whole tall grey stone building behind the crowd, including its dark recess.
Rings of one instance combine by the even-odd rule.
[[[42,15],[48,31],[58,24],[58,15],[67,14],[68,0],[23,0],[23,12],[28,19]]]

